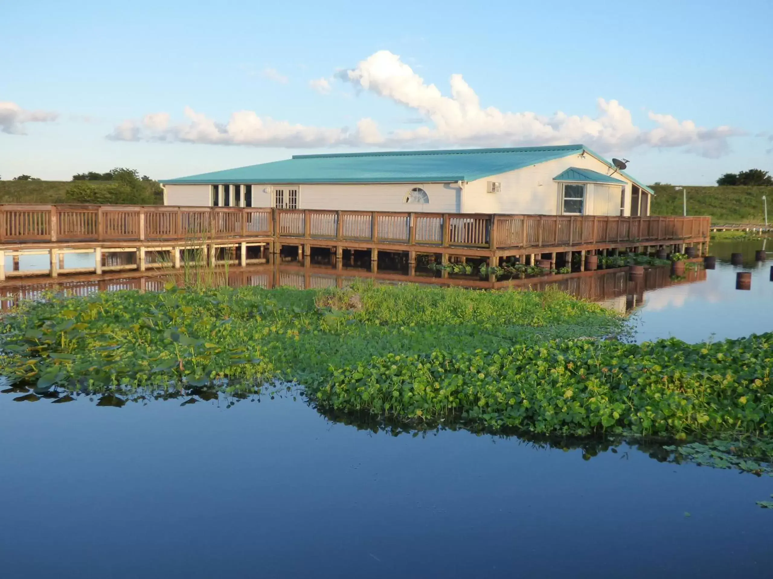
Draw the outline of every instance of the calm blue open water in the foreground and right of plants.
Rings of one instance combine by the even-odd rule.
[[[635,305],[640,340],[769,331],[771,264],[747,262],[749,292],[718,262],[660,289],[622,276],[604,300]],[[755,505],[773,478],[657,445],[394,436],[291,397],[18,396],[0,394],[2,577],[773,576],[773,511]]]

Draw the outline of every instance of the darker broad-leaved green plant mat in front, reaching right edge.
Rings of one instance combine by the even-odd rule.
[[[481,428],[587,435],[771,433],[773,334],[717,344],[550,340],[388,354],[335,368],[323,405]]]

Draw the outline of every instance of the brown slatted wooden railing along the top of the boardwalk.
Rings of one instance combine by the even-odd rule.
[[[707,238],[708,217],[0,205],[0,243],[267,237],[485,249]]]

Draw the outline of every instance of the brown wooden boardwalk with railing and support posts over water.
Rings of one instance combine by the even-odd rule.
[[[490,215],[477,213],[349,212],[316,209],[209,208],[124,205],[0,205],[0,279],[32,275],[15,266],[19,256],[48,255],[44,274],[103,273],[117,269],[181,267],[186,250],[199,250],[212,265],[245,266],[297,248],[299,261],[312,249],[335,254],[407,252],[446,263],[453,257],[484,259],[495,265],[517,256],[535,263],[541,256],[614,249],[670,246],[707,248],[708,217],[618,217],[583,215]],[[93,253],[94,266],[64,269],[66,253]],[[130,264],[110,266],[106,254],[129,252]],[[163,259],[146,259],[148,252]],[[12,256],[14,267],[5,268]],[[583,260],[581,259],[581,262]],[[37,270],[37,275],[40,271]]]

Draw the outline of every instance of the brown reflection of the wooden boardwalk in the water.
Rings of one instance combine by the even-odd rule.
[[[7,310],[16,300],[34,300],[47,291],[61,291],[75,296],[87,296],[97,291],[118,291],[137,289],[140,291],[162,291],[166,283],[174,280],[182,283],[184,273],[155,273],[136,275],[134,273],[110,274],[104,276],[72,276],[51,283],[48,279],[20,280],[0,284],[0,309]],[[301,265],[266,265],[220,270],[213,274],[213,283],[218,286],[257,286],[264,289],[274,287],[295,287],[318,289],[347,286],[356,279],[373,279],[375,283],[433,283],[444,286],[468,286],[471,288],[490,287],[474,276],[451,276],[440,279],[431,273],[407,276],[400,272],[370,273],[366,269],[349,269],[335,273],[325,267],[304,267]],[[681,283],[706,280],[704,269],[688,269],[679,278],[671,276],[667,267],[646,269],[643,276],[632,276],[628,269],[578,272],[565,275],[544,276],[531,279],[512,279],[507,286],[524,289],[547,289],[554,287],[584,300],[602,303],[613,310],[625,312],[644,303],[644,293],[652,289],[669,287]]]

